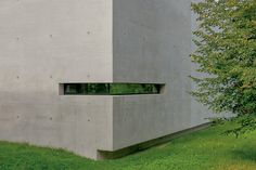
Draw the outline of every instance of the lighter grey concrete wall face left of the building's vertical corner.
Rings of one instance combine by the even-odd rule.
[[[111,96],[59,95],[112,81],[112,15],[108,0],[0,1],[0,140],[91,158],[112,145]]]

